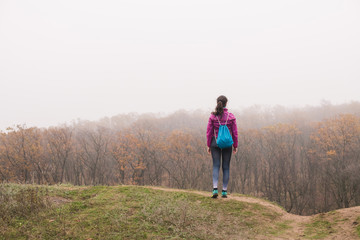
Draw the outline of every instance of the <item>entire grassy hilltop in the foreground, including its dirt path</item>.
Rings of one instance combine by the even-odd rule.
[[[0,239],[360,239],[360,207],[310,217],[262,199],[139,186],[0,185]]]

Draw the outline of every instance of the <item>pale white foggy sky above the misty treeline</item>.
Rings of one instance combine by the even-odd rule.
[[[360,1],[0,0],[0,129],[360,100]]]

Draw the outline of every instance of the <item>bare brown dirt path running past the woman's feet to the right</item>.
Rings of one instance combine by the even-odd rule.
[[[149,187],[156,190],[169,191],[169,192],[187,192],[195,193],[202,196],[210,197],[209,193],[200,191],[190,191],[183,189],[170,189],[163,187]],[[260,198],[252,198],[246,196],[232,196],[229,195],[227,199],[232,199],[240,202],[256,203],[266,208],[273,210],[280,215],[279,222],[286,222],[291,228],[284,232],[281,236],[272,239],[305,239],[304,231],[306,224],[311,223],[318,217],[323,217],[323,220],[333,222],[333,232],[322,239],[359,239],[355,233],[355,228],[358,223],[358,217],[360,217],[360,207],[339,209],[327,214],[317,214],[312,216],[300,216],[286,212],[281,207],[272,204],[266,200]],[[224,199],[225,201],[227,199]],[[262,239],[262,238],[260,238]],[[264,238],[268,239],[268,238]]]

